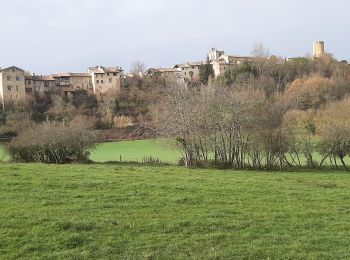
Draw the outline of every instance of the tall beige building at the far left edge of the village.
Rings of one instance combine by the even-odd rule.
[[[7,103],[25,103],[25,71],[12,66],[0,69],[0,102],[4,108]]]

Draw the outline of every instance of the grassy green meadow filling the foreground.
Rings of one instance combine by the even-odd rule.
[[[350,258],[350,175],[5,164],[0,258]]]

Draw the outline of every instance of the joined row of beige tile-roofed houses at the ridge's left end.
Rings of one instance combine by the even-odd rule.
[[[31,74],[12,66],[0,69],[0,101],[2,107],[8,103],[35,103],[55,93],[72,96],[77,91],[95,95],[97,100],[111,91],[119,91],[124,82],[121,67],[91,67],[86,73],[58,73],[49,76]]]

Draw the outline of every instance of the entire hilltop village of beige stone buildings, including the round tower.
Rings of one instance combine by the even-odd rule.
[[[313,58],[321,58],[326,55],[324,43],[315,42]],[[193,83],[199,81],[200,68],[206,64],[210,64],[217,78],[237,65],[261,59],[278,59],[283,63],[295,58],[234,56],[212,48],[206,60],[176,64],[172,68],[149,68],[137,76]],[[96,66],[88,68],[85,73],[68,72],[52,75],[36,75],[25,69],[11,66],[0,69],[1,104],[3,108],[7,103],[36,104],[51,94],[70,97],[78,91],[86,91],[88,95],[95,96],[98,102],[103,102],[109,93],[118,93],[132,77],[134,75],[124,73],[124,70],[118,66]]]

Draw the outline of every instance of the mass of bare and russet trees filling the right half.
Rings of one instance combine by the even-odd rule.
[[[349,72],[331,57],[261,59],[199,87],[172,84],[154,118],[188,167],[348,170]]]

